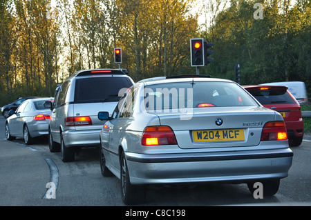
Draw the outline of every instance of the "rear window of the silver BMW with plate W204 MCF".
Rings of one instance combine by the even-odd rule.
[[[249,94],[230,82],[161,83],[146,86],[144,90],[147,110],[258,106]]]

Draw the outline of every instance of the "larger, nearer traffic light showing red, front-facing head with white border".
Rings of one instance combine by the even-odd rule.
[[[204,45],[202,38],[190,39],[191,66],[205,66]]]

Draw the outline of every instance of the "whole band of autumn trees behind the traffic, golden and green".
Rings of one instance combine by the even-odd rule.
[[[203,0],[205,29],[191,6],[198,0],[0,1],[0,106],[26,95],[50,96],[57,83],[87,68],[122,68],[138,81],[195,74],[189,39],[214,43],[214,62],[201,74],[241,84],[304,81],[311,97],[310,0]],[[255,3],[263,19],[255,19]],[[223,6],[226,6],[223,8]],[[200,10],[199,10],[200,11]]]

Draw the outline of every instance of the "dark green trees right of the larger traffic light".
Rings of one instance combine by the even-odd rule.
[[[213,76],[234,79],[241,65],[241,84],[305,81],[310,92],[310,1],[232,1],[203,32],[213,36]],[[254,3],[263,4],[263,19],[254,19]]]

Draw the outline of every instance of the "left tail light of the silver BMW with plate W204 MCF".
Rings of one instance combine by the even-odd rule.
[[[169,126],[151,126],[142,134],[143,146],[159,146],[177,144],[175,134]]]

